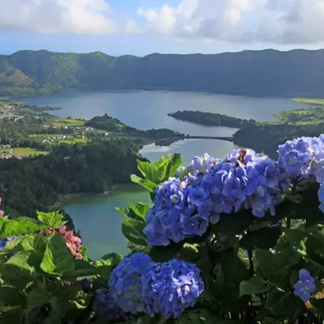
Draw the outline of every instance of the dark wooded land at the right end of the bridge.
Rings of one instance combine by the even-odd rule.
[[[238,130],[234,135],[234,143],[250,147],[257,152],[264,151],[270,157],[277,156],[278,145],[287,140],[300,136],[319,136],[324,133],[324,124],[278,124],[278,125],[255,125]]]

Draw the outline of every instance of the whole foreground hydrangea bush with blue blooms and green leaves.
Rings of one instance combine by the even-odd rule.
[[[2,323],[322,323],[324,135],[138,161],[129,255],[91,260],[57,212],[0,217]]]

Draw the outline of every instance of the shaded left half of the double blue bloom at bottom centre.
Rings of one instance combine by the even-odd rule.
[[[123,258],[111,272],[109,292],[115,303],[125,312],[132,314],[144,311],[143,285],[151,258],[142,253],[134,253]]]

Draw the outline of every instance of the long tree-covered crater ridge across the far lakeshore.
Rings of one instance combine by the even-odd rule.
[[[255,96],[323,95],[324,50],[145,57],[19,51],[0,56],[0,95],[165,89]]]

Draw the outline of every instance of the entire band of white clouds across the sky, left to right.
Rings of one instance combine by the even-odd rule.
[[[324,0],[179,0],[176,7],[166,0],[160,8],[138,8],[133,18],[114,12],[108,3],[109,0],[0,0],[0,30],[160,33],[210,42],[324,42]]]

